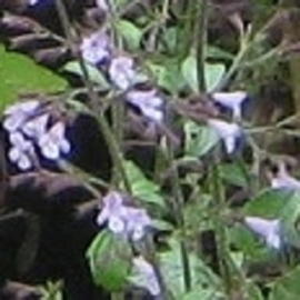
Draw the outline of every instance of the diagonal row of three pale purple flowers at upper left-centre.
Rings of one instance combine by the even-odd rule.
[[[102,1],[99,6],[103,7]],[[113,50],[113,43],[104,30],[84,37],[80,50],[87,62],[106,70],[112,86],[124,93],[124,101],[136,107],[150,121],[163,120],[162,98],[156,89],[141,91],[134,88],[137,83],[148,81],[148,77],[138,71],[131,57]]]

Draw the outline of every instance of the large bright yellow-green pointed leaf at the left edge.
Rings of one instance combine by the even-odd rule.
[[[16,101],[20,93],[50,93],[67,87],[64,79],[23,54],[7,52],[0,46],[0,111],[6,104]]]

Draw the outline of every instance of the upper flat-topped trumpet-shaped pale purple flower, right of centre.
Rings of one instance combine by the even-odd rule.
[[[216,102],[232,110],[234,118],[241,118],[241,106],[247,99],[246,91],[213,92],[211,96]]]

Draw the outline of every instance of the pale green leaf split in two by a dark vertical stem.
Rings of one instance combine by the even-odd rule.
[[[186,80],[186,83],[190,89],[198,93],[198,71],[197,71],[197,59],[194,56],[189,56],[181,66],[181,72]],[[207,91],[211,92],[218,86],[226,72],[226,68],[222,63],[209,63],[204,64],[206,84]]]

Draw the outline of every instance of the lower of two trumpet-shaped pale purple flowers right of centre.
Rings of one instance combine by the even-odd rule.
[[[237,123],[229,123],[220,119],[209,119],[208,124],[223,140],[227,153],[231,154],[237,147],[238,139],[242,136],[241,128]]]

